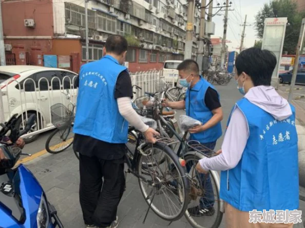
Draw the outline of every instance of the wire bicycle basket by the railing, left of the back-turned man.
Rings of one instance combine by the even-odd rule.
[[[65,105],[58,103],[51,106],[51,123],[58,129],[68,128],[75,118],[74,112],[71,112]]]

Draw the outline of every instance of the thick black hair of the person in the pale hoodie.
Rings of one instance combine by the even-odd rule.
[[[260,48],[248,48],[240,52],[235,61],[237,74],[248,74],[254,86],[270,86],[277,60],[273,52]]]

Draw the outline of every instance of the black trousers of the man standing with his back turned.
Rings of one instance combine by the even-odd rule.
[[[124,159],[103,160],[80,154],[80,178],[80,203],[85,223],[109,226],[116,220],[124,193]]]

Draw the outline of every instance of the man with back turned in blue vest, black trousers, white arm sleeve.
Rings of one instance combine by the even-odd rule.
[[[123,36],[108,37],[99,61],[81,67],[73,149],[80,154],[80,203],[87,227],[118,226],[117,208],[125,188],[128,123],[155,142],[154,129],[132,108],[132,85]],[[103,180],[104,181],[103,181]]]

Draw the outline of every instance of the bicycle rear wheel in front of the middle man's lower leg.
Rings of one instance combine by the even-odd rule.
[[[217,228],[223,216],[218,188],[220,180],[215,171],[206,175],[197,172],[196,164],[204,157],[200,153],[186,154],[184,157],[190,182],[190,201],[185,217],[195,228]]]

